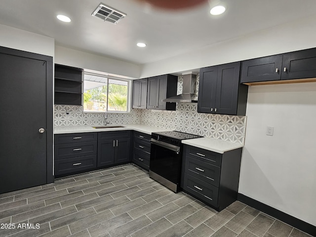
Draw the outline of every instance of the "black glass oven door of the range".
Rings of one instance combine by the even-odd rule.
[[[181,164],[181,147],[151,139],[150,173],[152,171],[173,184],[180,185]]]

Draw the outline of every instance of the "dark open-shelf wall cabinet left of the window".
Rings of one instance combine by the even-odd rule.
[[[83,70],[55,64],[55,105],[82,105]]]

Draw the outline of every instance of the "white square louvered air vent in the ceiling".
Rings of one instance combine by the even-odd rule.
[[[97,9],[95,9],[95,11],[92,13],[92,16],[117,24],[126,16],[126,14],[100,3]]]

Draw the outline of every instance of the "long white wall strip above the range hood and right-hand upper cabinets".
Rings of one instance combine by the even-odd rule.
[[[316,16],[311,16],[242,38],[206,46],[195,52],[145,64],[142,65],[141,78],[313,48],[316,47],[315,22]]]

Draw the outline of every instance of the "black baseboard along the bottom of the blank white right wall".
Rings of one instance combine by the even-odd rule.
[[[238,193],[237,200],[259,211],[262,211],[272,217],[275,217],[276,219],[286,224],[289,224],[290,226],[293,226],[300,231],[303,231],[311,236],[316,237],[316,226],[313,226],[312,224],[302,221],[294,216],[286,214],[282,211],[277,210],[274,207],[268,206],[267,204],[264,204],[260,201],[252,199],[251,197],[247,197],[240,193]]]

